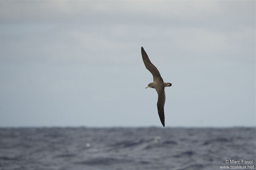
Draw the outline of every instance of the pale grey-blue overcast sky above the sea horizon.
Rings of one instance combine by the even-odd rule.
[[[255,126],[255,1],[0,1],[0,126]]]

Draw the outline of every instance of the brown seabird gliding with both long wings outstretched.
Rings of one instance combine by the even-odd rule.
[[[143,62],[146,66],[146,68],[151,72],[153,75],[153,82],[149,83],[148,87],[156,89],[156,92],[158,94],[158,100],[157,100],[157,110],[158,110],[158,115],[160,118],[161,123],[164,126],[164,102],[165,102],[165,92],[164,92],[164,87],[170,87],[172,84],[171,83],[164,83],[163,78],[161,77],[159,71],[157,70],[156,66],[154,66],[149,58],[147,53],[145,52],[144,48],[141,47],[141,55]]]

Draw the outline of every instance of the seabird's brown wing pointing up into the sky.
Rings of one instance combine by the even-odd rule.
[[[148,58],[148,55],[147,53],[145,52],[144,48],[141,47],[141,55],[142,55],[142,59],[143,59],[143,62],[146,66],[146,68],[151,72],[151,74],[153,75],[153,79],[154,81],[160,81],[160,82],[164,82],[163,81],[163,78],[161,77],[159,71],[157,70],[156,66],[154,66],[149,58]]]

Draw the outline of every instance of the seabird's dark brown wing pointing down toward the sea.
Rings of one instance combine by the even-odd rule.
[[[158,100],[157,100],[157,110],[158,115],[160,118],[160,121],[162,125],[164,126],[164,102],[165,102],[165,92],[164,90],[156,90],[158,94]]]

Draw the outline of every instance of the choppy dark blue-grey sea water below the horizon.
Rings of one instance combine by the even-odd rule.
[[[255,135],[255,128],[0,128],[0,169],[256,169]]]

